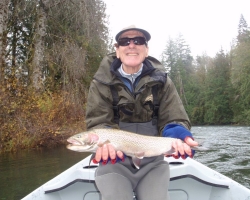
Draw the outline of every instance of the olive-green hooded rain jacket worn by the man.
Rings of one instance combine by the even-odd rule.
[[[162,64],[153,57],[143,62],[143,70],[134,84],[118,72],[120,59],[115,53],[106,56],[97,70],[89,88],[86,108],[87,129],[96,127],[119,128],[114,121],[113,97],[110,86],[118,91],[121,122],[141,123],[152,120],[152,87],[158,85],[158,131],[170,123],[190,129],[190,122],[182,101]],[[130,88],[130,89],[129,89]]]

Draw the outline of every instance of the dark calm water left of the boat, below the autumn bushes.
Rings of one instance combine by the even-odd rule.
[[[18,200],[60,174],[88,154],[65,147],[47,150],[22,150],[0,158],[0,200]]]

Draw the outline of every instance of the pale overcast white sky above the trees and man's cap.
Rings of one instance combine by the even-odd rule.
[[[250,26],[250,0],[103,0],[111,36],[136,25],[151,34],[149,55],[160,59],[169,38],[179,34],[191,54],[214,57],[230,51],[241,14]],[[115,41],[115,39],[114,39]]]

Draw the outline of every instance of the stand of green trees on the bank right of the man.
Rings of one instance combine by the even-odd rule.
[[[194,62],[179,36],[167,42],[162,63],[193,124],[250,124],[250,31],[243,16],[228,54],[221,50]]]

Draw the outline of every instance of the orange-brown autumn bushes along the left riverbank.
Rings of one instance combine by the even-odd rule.
[[[0,95],[0,153],[53,148],[85,130],[85,101],[68,93]]]

